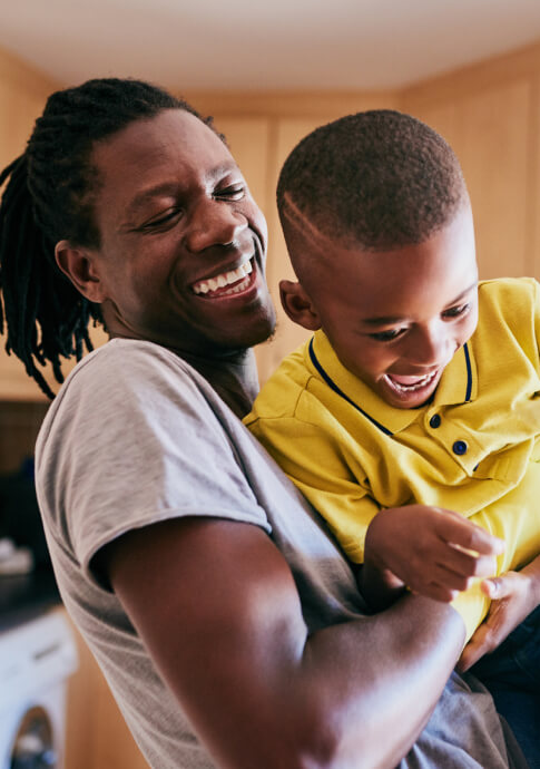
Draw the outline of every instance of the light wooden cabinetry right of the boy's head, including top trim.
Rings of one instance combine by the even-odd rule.
[[[539,274],[540,43],[408,88],[461,159],[482,278]]]

